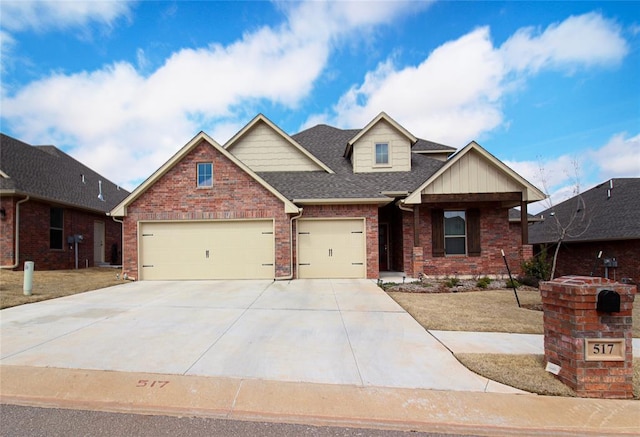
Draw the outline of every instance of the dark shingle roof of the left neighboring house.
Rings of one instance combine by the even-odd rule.
[[[0,194],[106,213],[129,192],[57,147],[32,146],[0,134]]]

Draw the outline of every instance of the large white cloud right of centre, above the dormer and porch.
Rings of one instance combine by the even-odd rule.
[[[441,45],[419,65],[398,67],[388,59],[330,112],[309,120],[358,127],[384,110],[415,135],[461,147],[505,124],[504,98],[531,75],[610,65],[628,50],[620,27],[595,13],[569,17],[542,33],[520,29],[501,47],[483,27]]]

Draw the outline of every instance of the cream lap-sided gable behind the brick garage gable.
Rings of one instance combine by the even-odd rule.
[[[298,144],[267,117],[258,114],[224,145],[256,172],[325,171],[322,161]]]

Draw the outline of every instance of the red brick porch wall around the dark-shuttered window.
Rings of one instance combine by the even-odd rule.
[[[469,206],[455,205],[447,209],[468,209]],[[403,212],[402,222],[404,271],[416,277],[419,273],[427,276],[504,276],[507,269],[500,253],[503,249],[511,272],[521,273],[521,262],[532,256],[532,248],[521,244],[520,223],[509,222],[509,212],[499,206],[480,208],[481,255],[433,257],[431,235],[431,209],[420,206],[420,245],[424,250],[422,272],[415,271],[413,265],[413,214]]]

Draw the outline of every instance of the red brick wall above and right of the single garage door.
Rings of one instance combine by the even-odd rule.
[[[364,218],[367,235],[367,278],[379,276],[378,206],[377,205],[309,205],[304,218]]]

